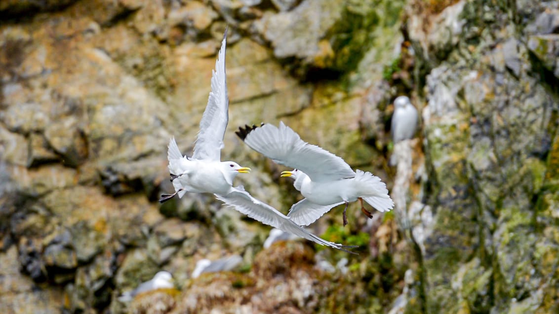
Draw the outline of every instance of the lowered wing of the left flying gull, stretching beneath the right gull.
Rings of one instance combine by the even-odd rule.
[[[233,207],[235,210],[240,211],[242,214],[245,214],[252,219],[260,221],[260,223],[273,226],[274,228],[295,234],[301,238],[305,238],[321,245],[326,245],[328,247],[343,250],[344,252],[356,254],[345,249],[353,248],[351,246],[326,241],[319,238],[319,236],[310,233],[305,230],[305,228],[302,228],[300,225],[297,225],[291,219],[287,218],[286,215],[277,211],[274,207],[252,197],[242,186],[234,187],[233,189],[234,190],[228,195],[215,194],[215,196],[226,205]]]

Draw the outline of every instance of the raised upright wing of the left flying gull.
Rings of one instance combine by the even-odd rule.
[[[220,161],[223,136],[229,120],[229,99],[225,81],[225,42],[227,30],[221,41],[221,49],[212,70],[211,91],[206,110],[200,120],[200,131],[194,146],[192,158],[198,160]]]

